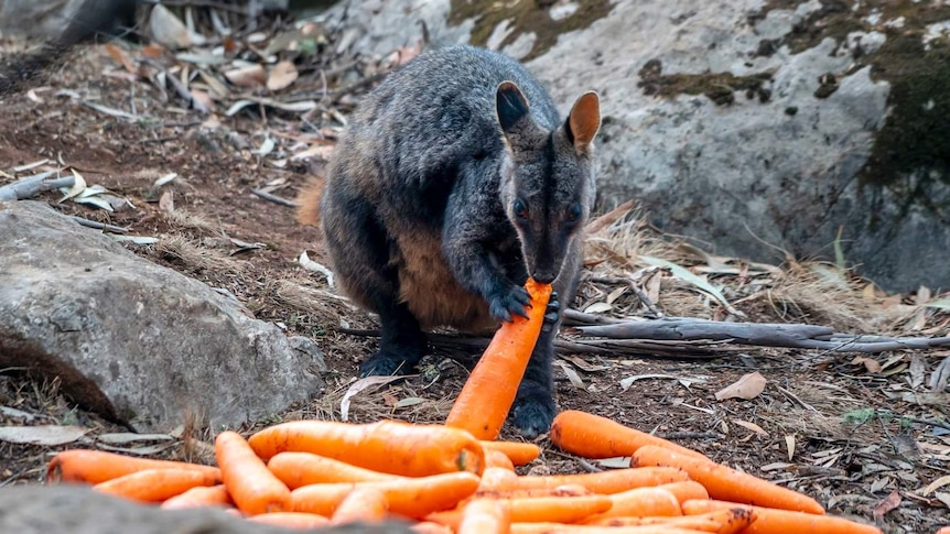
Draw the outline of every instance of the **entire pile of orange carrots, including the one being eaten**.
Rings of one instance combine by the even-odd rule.
[[[516,466],[540,448],[495,439],[550,295],[550,286],[526,287],[529,317],[499,329],[445,425],[296,421],[247,439],[223,432],[217,467],[66,450],[51,460],[47,483],[87,483],[163,509],[217,506],[304,530],[402,520],[424,534],[881,533],[825,515],[802,493],[577,411],[554,419],[553,445],[584,458],[630,457],[630,467],[518,475]]]

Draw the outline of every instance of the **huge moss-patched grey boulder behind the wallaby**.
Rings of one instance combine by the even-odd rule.
[[[345,13],[345,15],[344,15]],[[719,254],[845,259],[884,288],[950,286],[950,6],[832,0],[370,0],[338,48],[472,43],[566,111],[602,96],[602,208]],[[764,244],[768,243],[770,246]]]

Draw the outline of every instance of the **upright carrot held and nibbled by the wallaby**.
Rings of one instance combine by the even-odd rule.
[[[525,284],[531,303],[528,316],[501,323],[449,411],[446,426],[464,428],[478,439],[495,439],[515,402],[518,385],[535,350],[551,296],[550,284]]]

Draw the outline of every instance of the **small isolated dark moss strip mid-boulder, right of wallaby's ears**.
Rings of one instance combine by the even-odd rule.
[[[659,59],[650,59],[640,68],[637,86],[644,89],[644,94],[661,97],[705,95],[720,106],[734,102],[736,91],[745,91],[746,98],[758,97],[762,102],[767,102],[771,97],[771,92],[763,87],[771,79],[771,73],[751,76],[735,76],[732,73],[665,75],[662,68]]]

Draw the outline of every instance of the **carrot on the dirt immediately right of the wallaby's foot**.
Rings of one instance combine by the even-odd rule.
[[[551,425],[551,442],[561,450],[584,458],[630,456],[645,445],[656,445],[687,456],[706,458],[695,450],[661,437],[576,410],[561,412],[554,417],[554,423]]]

